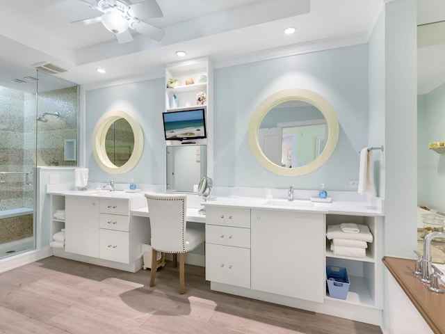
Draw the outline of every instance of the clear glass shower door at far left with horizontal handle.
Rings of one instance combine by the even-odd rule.
[[[0,86],[0,258],[35,248],[37,73]]]

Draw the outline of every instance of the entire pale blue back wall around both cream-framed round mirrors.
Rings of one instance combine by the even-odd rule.
[[[216,69],[214,72],[214,173],[216,186],[351,191],[358,180],[359,150],[367,145],[367,45]],[[340,123],[339,143],[325,166],[300,177],[282,177],[261,167],[250,153],[247,129],[257,105],[286,88],[306,88],[330,102]],[[93,180],[163,184],[165,141],[161,113],[164,80],[154,79],[86,91],[86,166]],[[123,110],[140,121],[145,147],[138,166],[110,175],[92,156],[92,131],[106,111]]]

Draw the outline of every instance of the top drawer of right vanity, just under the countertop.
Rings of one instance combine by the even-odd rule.
[[[239,207],[207,207],[206,224],[250,228],[250,209]]]

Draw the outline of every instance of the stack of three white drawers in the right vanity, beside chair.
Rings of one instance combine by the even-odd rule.
[[[206,279],[250,288],[250,209],[206,210]]]

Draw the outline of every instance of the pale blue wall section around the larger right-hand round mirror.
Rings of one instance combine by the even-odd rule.
[[[214,184],[350,191],[358,180],[359,150],[368,142],[367,45],[355,45],[218,68],[214,80]],[[259,165],[248,145],[258,104],[286,88],[306,88],[330,102],[340,123],[337,148],[327,163],[300,177],[282,177]]]

